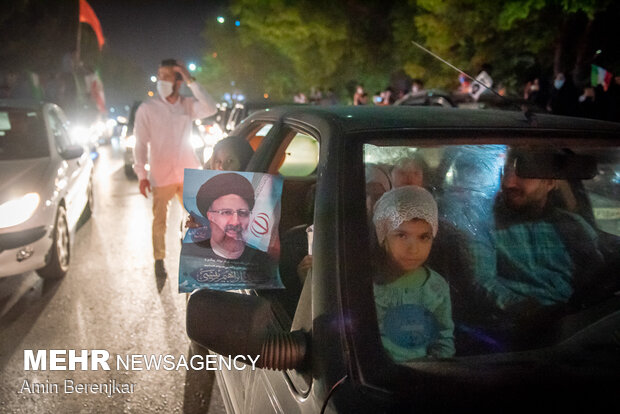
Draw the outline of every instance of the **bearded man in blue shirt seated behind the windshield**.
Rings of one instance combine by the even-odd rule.
[[[523,319],[562,308],[586,288],[603,263],[596,231],[564,209],[559,181],[522,178],[515,165],[527,150],[509,151],[494,206],[494,225],[473,242],[479,291],[504,316]]]

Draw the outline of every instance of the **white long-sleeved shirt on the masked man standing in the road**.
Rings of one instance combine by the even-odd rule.
[[[148,163],[153,187],[181,183],[185,168],[202,167],[190,142],[192,122],[213,115],[217,107],[198,82],[188,87],[195,98],[180,96],[171,104],[158,96],[142,103],[136,112],[134,170],[143,180]]]

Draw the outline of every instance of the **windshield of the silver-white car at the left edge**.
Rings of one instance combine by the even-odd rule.
[[[41,114],[32,109],[0,108],[0,161],[49,156]]]

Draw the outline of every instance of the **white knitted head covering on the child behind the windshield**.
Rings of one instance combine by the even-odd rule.
[[[437,235],[437,203],[426,189],[415,185],[395,188],[383,194],[377,204],[372,222],[379,244],[387,234],[405,221],[421,219],[431,225]]]

